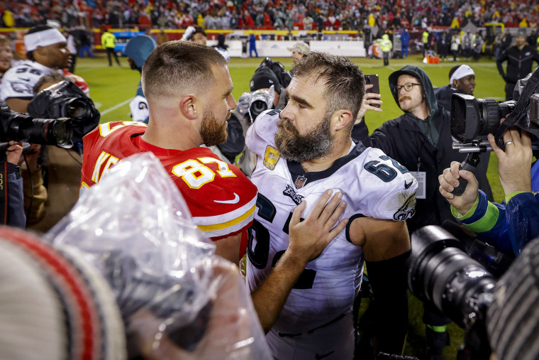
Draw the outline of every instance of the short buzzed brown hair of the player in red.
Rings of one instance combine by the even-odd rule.
[[[178,90],[208,87],[215,80],[211,67],[216,65],[226,67],[217,50],[191,41],[168,41],[157,46],[144,62],[144,95],[170,96]]]

